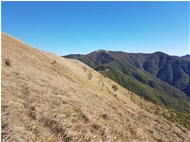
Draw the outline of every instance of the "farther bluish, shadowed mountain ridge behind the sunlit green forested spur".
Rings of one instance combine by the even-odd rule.
[[[65,57],[82,60],[93,68],[111,62],[128,63],[135,68],[148,72],[181,91],[186,90],[190,82],[189,55],[175,57],[162,52],[155,52],[153,54],[135,54],[99,50],[98,52],[95,51],[87,55],[78,54]],[[188,91],[184,91],[184,93],[190,95]]]

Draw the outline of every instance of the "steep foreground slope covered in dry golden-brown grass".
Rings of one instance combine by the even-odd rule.
[[[174,111],[141,99],[78,60],[2,33],[1,64],[3,142],[190,139],[186,128],[164,118],[175,118]]]

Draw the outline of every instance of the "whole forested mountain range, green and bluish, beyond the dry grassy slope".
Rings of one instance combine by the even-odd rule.
[[[90,54],[72,54],[78,59],[139,96],[190,112],[190,56],[170,56],[98,50]]]

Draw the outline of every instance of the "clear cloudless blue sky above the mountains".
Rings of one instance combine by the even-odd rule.
[[[189,54],[190,2],[2,2],[2,31],[58,55]]]

